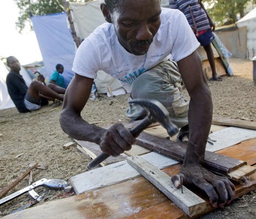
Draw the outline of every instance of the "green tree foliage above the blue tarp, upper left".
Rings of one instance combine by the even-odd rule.
[[[13,0],[20,9],[20,16],[16,22],[16,27],[21,32],[26,25],[32,22],[30,16],[54,14],[65,11],[63,0]],[[70,0],[70,2],[88,2],[91,0]]]

